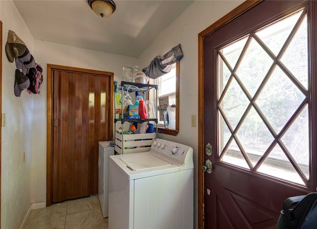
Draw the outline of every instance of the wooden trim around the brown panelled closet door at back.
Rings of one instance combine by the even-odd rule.
[[[110,120],[113,119],[113,72],[91,70],[85,68],[68,67],[62,65],[48,64],[47,66],[47,176],[46,176],[46,206],[53,203],[53,70],[81,72],[93,75],[110,77]],[[113,125],[110,125],[109,133],[112,138]]]

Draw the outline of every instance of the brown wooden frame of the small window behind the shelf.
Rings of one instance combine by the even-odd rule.
[[[176,88],[175,88],[176,127],[175,127],[175,129],[169,129],[169,128],[165,128],[164,126],[158,125],[158,133],[169,134],[169,135],[174,135],[174,136],[176,136],[179,132],[179,73],[180,73],[179,61],[176,62],[175,68],[176,68]],[[159,99],[159,98],[157,98],[157,99]]]

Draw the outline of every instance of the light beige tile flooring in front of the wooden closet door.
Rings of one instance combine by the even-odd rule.
[[[32,210],[24,229],[107,229],[97,195]]]

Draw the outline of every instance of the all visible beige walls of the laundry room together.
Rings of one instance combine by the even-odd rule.
[[[32,206],[45,206],[47,64],[110,71],[114,72],[114,80],[119,81],[123,66],[137,64],[143,68],[155,56],[165,54],[179,43],[184,53],[180,62],[180,132],[178,136],[160,134],[159,138],[187,144],[194,149],[197,228],[198,127],[191,127],[190,116],[198,116],[198,33],[242,2],[195,1],[136,59],[34,40],[12,0],[0,0],[0,19],[3,22],[2,113],[7,117],[1,139],[1,228],[19,228]],[[28,95],[23,91],[17,98],[13,93],[15,64],[7,61],[4,52],[9,29],[27,44],[43,67],[41,95]]]

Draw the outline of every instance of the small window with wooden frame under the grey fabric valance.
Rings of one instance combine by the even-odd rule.
[[[158,85],[158,132],[171,135],[178,133],[179,118],[179,62],[170,72],[155,79]]]

